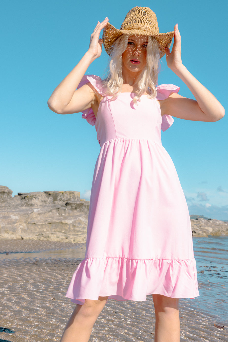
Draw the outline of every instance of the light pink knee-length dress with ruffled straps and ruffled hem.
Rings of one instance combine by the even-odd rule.
[[[98,76],[84,76],[100,93]],[[157,100],[179,88],[157,87]],[[97,118],[92,109],[82,117],[94,125],[100,144],[86,242],[66,296],[108,296],[144,301],[157,293],[173,298],[199,295],[192,233],[185,196],[173,162],[161,144],[161,129],[173,118],[161,117],[159,103],[146,95],[138,105],[133,93],[116,100],[105,96]]]

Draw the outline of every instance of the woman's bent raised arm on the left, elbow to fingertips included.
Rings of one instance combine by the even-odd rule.
[[[48,106],[58,114],[79,113],[90,108],[96,101],[96,93],[92,86],[85,84],[76,90],[89,65],[100,56],[103,40],[99,39],[100,31],[107,25],[108,18],[98,21],[90,39],[88,51],[80,62],[55,88],[48,100]]]

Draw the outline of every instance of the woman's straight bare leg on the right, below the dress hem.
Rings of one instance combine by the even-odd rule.
[[[155,342],[179,342],[180,320],[178,299],[153,294],[155,306]]]

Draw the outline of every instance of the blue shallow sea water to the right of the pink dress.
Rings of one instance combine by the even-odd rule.
[[[228,324],[228,236],[193,238],[200,297],[183,300]]]

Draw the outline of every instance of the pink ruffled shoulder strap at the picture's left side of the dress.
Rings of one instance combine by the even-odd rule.
[[[100,95],[104,94],[104,86],[102,85],[102,79],[99,76],[96,76],[96,75],[84,75],[82,77],[82,80],[79,83],[77,89],[81,88],[86,83],[91,83],[92,86],[96,89],[96,91]],[[93,109],[92,108],[88,108],[88,109],[83,110],[83,112],[82,112],[82,119],[86,119],[86,121],[89,124],[94,126],[95,122],[96,122],[96,118],[95,118],[95,115],[93,113]]]

